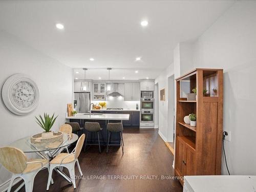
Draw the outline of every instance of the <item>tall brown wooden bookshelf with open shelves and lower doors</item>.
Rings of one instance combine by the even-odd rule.
[[[187,101],[194,88],[197,100]],[[221,175],[223,70],[195,69],[176,79],[176,89],[175,175]],[[191,113],[196,127],[183,120]]]

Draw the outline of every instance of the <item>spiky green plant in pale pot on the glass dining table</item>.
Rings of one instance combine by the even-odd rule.
[[[37,117],[35,117],[37,120],[36,123],[39,124],[40,127],[42,127],[42,129],[45,130],[45,132],[42,132],[41,134],[42,138],[53,137],[53,132],[50,130],[57,117],[58,116],[54,117],[54,114],[50,117],[50,115],[47,113],[44,113],[44,119],[41,117],[41,115],[39,115],[40,120]]]

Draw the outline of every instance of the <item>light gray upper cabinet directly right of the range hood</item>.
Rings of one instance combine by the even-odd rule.
[[[138,82],[124,83],[124,100],[140,100],[140,84]]]

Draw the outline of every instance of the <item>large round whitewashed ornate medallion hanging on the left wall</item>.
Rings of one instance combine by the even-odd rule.
[[[25,74],[10,76],[2,88],[2,97],[6,107],[16,115],[32,112],[39,100],[36,83]]]

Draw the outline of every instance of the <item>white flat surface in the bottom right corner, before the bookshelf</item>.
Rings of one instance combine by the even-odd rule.
[[[185,176],[189,192],[255,192],[256,176]]]

